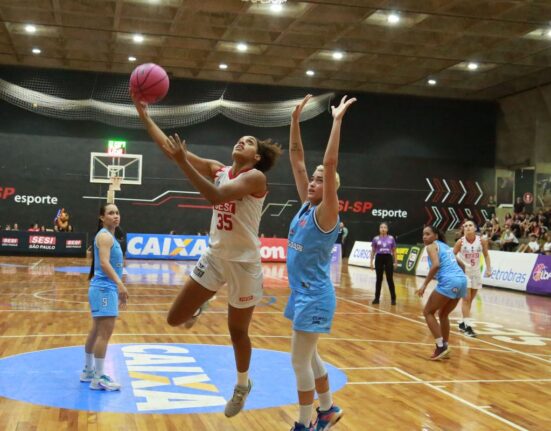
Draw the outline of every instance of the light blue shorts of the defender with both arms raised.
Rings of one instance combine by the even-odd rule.
[[[295,331],[329,333],[336,305],[333,291],[320,295],[291,291],[284,316],[293,321]]]

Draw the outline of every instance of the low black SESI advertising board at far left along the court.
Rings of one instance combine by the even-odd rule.
[[[87,237],[73,232],[0,231],[0,254],[85,257]]]

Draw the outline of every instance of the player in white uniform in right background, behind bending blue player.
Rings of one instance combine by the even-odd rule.
[[[482,239],[476,234],[476,225],[472,220],[463,223],[463,236],[457,240],[453,252],[465,263],[465,275],[467,276],[467,296],[461,303],[462,320],[459,322],[459,330],[469,337],[476,337],[471,322],[471,304],[479,289],[482,288],[482,275],[480,273],[480,257],[486,261],[486,277],[492,275],[490,254],[488,253],[488,240]]]

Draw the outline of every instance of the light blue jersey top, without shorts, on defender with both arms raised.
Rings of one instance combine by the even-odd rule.
[[[291,290],[322,294],[333,290],[331,252],[339,234],[337,226],[323,231],[316,220],[316,206],[306,202],[293,218],[287,243],[287,274]]]

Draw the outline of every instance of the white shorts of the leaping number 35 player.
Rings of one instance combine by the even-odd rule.
[[[218,292],[224,283],[228,283],[228,302],[235,308],[253,307],[263,296],[260,262],[231,262],[213,256],[207,249],[190,276],[213,292]]]

